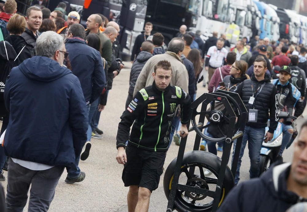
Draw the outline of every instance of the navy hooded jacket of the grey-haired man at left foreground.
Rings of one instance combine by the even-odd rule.
[[[49,166],[74,165],[86,141],[88,110],[80,81],[68,68],[42,56],[25,60],[8,76],[4,101],[10,111],[7,156]]]

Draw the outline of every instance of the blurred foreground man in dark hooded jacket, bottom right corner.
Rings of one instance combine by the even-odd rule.
[[[233,188],[217,212],[288,211],[307,202],[307,122],[294,143],[292,163],[275,164],[260,178]],[[294,210],[291,210],[294,211]]]

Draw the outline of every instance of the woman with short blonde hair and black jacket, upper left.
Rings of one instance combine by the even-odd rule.
[[[21,37],[21,34],[25,31],[25,25],[25,17],[19,14],[15,14],[11,17],[6,25],[7,30],[10,32],[10,36],[8,36],[5,41],[13,46],[17,55],[20,53],[18,56],[20,63],[34,56],[34,46],[28,44],[25,39]]]

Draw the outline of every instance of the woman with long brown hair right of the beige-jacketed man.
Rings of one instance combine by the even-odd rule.
[[[201,62],[201,57],[200,57],[200,51],[196,48],[193,48],[187,56],[187,59],[190,60],[194,66],[194,71],[195,71],[195,94],[192,96],[193,101],[196,99],[196,90],[197,90],[197,83],[200,83],[202,81],[202,78],[199,79],[199,75],[203,70],[203,64]]]

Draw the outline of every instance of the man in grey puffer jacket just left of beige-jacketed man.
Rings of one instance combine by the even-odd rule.
[[[129,91],[128,97],[126,100],[125,108],[128,107],[129,103],[133,99],[133,91],[135,87],[136,80],[138,79],[138,75],[141,73],[142,68],[146,64],[147,60],[151,58],[153,55],[153,44],[150,41],[144,41],[142,43],[141,52],[134,60],[130,71],[130,79],[129,79]]]

